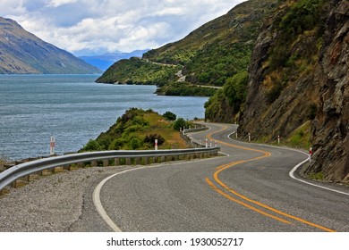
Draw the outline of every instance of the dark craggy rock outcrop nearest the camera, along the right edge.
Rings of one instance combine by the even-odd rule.
[[[312,122],[314,161],[308,172],[349,181],[349,1],[334,2],[316,71],[320,100]]]

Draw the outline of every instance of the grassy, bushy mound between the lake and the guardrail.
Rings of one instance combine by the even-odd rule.
[[[115,124],[97,139],[89,140],[81,152],[99,150],[135,150],[154,149],[155,139],[158,148],[185,148],[185,141],[180,137],[179,128],[191,123],[183,118],[176,119],[175,114],[166,112],[159,115],[151,110],[132,108],[119,117]]]

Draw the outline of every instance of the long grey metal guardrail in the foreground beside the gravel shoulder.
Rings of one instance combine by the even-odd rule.
[[[190,160],[194,158],[208,157],[217,155],[219,147],[209,148],[189,148],[189,149],[171,149],[171,150],[133,150],[133,151],[102,151],[81,154],[67,154],[55,157],[39,159],[32,162],[24,162],[11,167],[0,173],[0,191],[4,187],[13,185],[18,186],[18,180],[24,179],[30,181],[30,175],[34,173],[43,174],[46,170],[71,170],[72,164],[83,165],[87,162],[90,166],[97,166],[98,161],[103,162],[103,166],[120,165],[121,160],[126,165],[131,165],[132,160],[136,164],[149,164],[151,162],[166,162],[176,160]]]

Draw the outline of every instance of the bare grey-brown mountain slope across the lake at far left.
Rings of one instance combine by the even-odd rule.
[[[0,17],[0,73],[89,74],[101,71]]]

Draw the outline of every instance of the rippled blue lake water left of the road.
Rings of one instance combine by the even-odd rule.
[[[95,83],[96,75],[0,75],[0,156],[75,152],[137,107],[204,117],[207,97],[157,96],[155,86]]]

